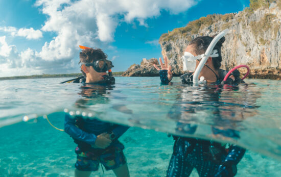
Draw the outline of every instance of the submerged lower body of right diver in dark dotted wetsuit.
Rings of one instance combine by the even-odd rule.
[[[175,137],[167,176],[189,176],[196,168],[199,176],[234,176],[245,149],[196,138]]]

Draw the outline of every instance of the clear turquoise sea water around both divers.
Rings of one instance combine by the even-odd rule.
[[[237,176],[281,172],[279,81],[246,80],[248,85],[221,89],[117,77],[114,87],[83,90],[80,84],[57,84],[64,80],[0,81],[0,176],[73,175],[75,143],[41,117],[63,128],[65,112],[133,126],[120,138],[131,176],[166,175],[173,147],[167,133],[248,148]],[[196,124],[196,132],[178,131],[178,121]],[[240,137],[214,135],[213,127],[236,130]],[[192,175],[198,176],[195,170]],[[114,175],[99,170],[92,176]]]

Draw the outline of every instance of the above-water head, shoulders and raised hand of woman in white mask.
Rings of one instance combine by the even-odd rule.
[[[222,82],[227,72],[220,69],[221,66],[221,47],[225,41],[223,37],[228,30],[224,30],[213,37],[200,36],[193,39],[186,47],[184,55],[181,57],[183,71],[186,73],[180,76],[183,84],[239,84],[244,83],[240,78],[240,72],[232,72],[226,82]],[[161,69],[154,64],[160,73],[162,84],[168,84],[173,78],[172,67],[168,66],[168,58],[164,58],[164,64],[159,58]],[[203,60],[203,61],[202,61]],[[194,72],[195,71],[195,72]],[[197,77],[193,80],[194,75]]]

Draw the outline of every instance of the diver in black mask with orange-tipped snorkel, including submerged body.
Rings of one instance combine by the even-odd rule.
[[[108,89],[112,89],[110,85],[115,83],[115,79],[111,73],[112,62],[107,60],[107,55],[101,49],[81,48],[79,63],[82,64],[83,77],[66,82],[83,83],[82,98],[76,105],[84,108],[86,105],[98,104],[101,100],[106,102],[107,97],[104,95]],[[106,170],[112,170],[116,176],[129,176],[124,145],[118,140],[128,129],[96,117],[66,114],[64,131],[77,144],[75,176],[90,176],[92,171],[98,170],[99,164]]]

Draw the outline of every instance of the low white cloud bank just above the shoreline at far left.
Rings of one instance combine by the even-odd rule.
[[[61,59],[56,61],[43,60],[39,53],[28,48],[18,52],[15,45],[8,45],[6,36],[0,37],[0,75],[9,77],[14,75],[30,75],[42,73],[73,73],[77,68],[75,59]]]

